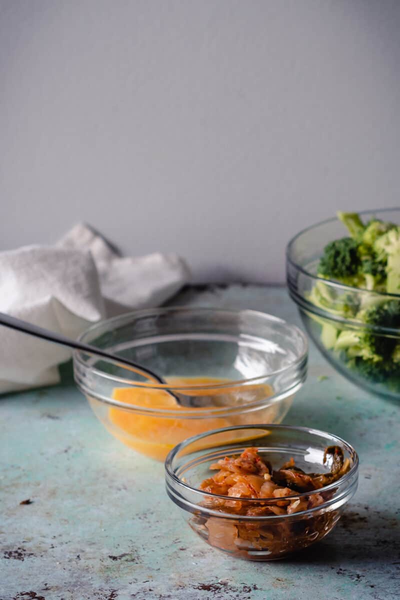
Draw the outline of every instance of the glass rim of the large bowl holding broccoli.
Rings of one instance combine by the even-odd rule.
[[[365,211],[357,211],[357,214],[359,215],[365,215],[365,214],[369,214],[371,212],[375,212],[375,213],[385,213],[385,212],[393,212],[393,211],[397,211],[400,215],[400,208],[398,208],[398,206],[393,206],[393,208],[380,208],[380,209],[366,209]],[[334,223],[335,221],[339,221],[338,217],[330,217],[327,219],[324,219],[323,221],[318,221],[318,223],[314,223],[312,225],[309,225],[308,227],[305,227],[304,229],[302,229],[300,232],[296,233],[296,235],[293,236],[293,238],[291,238],[286,246],[286,260],[288,263],[290,263],[291,266],[293,266],[294,268],[297,269],[297,271],[302,272],[304,275],[307,275],[307,277],[310,277],[311,279],[315,280],[315,281],[323,281],[324,283],[329,284],[332,287],[336,287],[338,289],[344,289],[344,290],[351,290],[351,291],[357,291],[357,292],[365,292],[365,293],[369,293],[371,295],[376,295],[378,297],[382,297],[382,298],[396,298],[396,299],[400,299],[400,293],[399,294],[393,294],[393,293],[389,293],[389,292],[377,292],[375,290],[367,290],[365,287],[354,287],[354,286],[348,286],[345,283],[341,283],[338,280],[335,279],[330,279],[329,277],[320,277],[319,275],[314,275],[312,274],[310,271],[308,271],[307,269],[305,269],[303,266],[299,265],[299,263],[297,263],[295,260],[292,259],[291,257],[291,251],[293,249],[293,245],[294,243],[297,241],[298,238],[300,238],[300,236],[302,236],[304,233],[307,233],[309,231],[311,231],[312,229],[317,229],[317,227],[320,227],[321,225],[325,225],[327,223]],[[329,240],[332,241],[332,240]],[[327,242],[329,243],[329,242]],[[311,304],[312,305],[312,304]],[[313,306],[313,305],[312,305]]]

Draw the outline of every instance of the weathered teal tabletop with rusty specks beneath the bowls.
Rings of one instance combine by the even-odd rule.
[[[186,290],[174,304],[254,308],[299,323],[273,287]],[[308,382],[285,422],[353,444],[359,490],[326,539],[281,561],[231,559],[197,538],[166,496],[163,465],[104,430],[70,365],[59,386],[2,397],[0,416],[1,600],[400,596],[399,406],[355,388],[312,346]]]

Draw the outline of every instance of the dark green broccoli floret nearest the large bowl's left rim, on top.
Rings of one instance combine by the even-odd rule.
[[[357,242],[352,238],[335,239],[324,248],[318,273],[333,279],[354,277],[361,266]]]

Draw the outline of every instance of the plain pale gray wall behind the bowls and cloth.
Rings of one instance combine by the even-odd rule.
[[[83,220],[197,281],[400,206],[397,0],[0,0],[0,249]]]

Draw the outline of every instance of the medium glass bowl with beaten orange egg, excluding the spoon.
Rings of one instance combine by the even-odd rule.
[[[121,442],[158,460],[203,431],[281,422],[306,377],[305,334],[250,310],[141,310],[97,323],[80,339],[169,382],[149,383],[118,365],[74,353],[76,383],[95,415]],[[176,406],[166,390],[207,395],[210,407]]]

